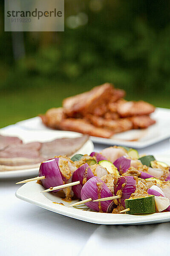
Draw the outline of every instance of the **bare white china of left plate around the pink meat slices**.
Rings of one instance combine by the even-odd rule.
[[[17,136],[23,143],[29,143],[34,141],[39,142],[47,142],[50,140],[55,140],[62,137],[80,137],[82,134],[72,132],[72,131],[53,131],[53,130],[46,130],[46,131],[33,131],[29,130],[26,131],[17,125],[11,125],[8,128],[4,128],[0,130],[1,135],[5,136]],[[75,154],[90,154],[94,149],[94,145],[91,140],[88,140],[82,148],[80,148]],[[23,170],[15,170],[15,171],[5,171],[0,172],[0,179],[1,178],[13,178],[13,177],[32,177],[38,175],[39,168],[32,168],[32,169],[23,169]]]

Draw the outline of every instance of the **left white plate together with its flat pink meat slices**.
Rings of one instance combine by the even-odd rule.
[[[58,155],[88,154],[92,149],[87,135],[9,126],[0,131],[0,178],[36,175],[42,161]]]

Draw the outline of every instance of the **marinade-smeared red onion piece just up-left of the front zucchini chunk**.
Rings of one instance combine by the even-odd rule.
[[[123,186],[122,186],[123,185]],[[136,180],[133,176],[121,176],[118,178],[116,185],[114,185],[114,193],[117,195],[118,190],[122,190],[120,198],[121,205],[125,207],[124,200],[130,198],[130,195],[136,190]]]

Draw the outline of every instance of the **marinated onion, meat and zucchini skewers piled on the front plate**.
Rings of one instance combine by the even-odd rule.
[[[134,149],[115,146],[90,156],[55,157],[41,164],[39,176],[45,192],[63,189],[67,199],[74,194],[82,200],[69,207],[85,203],[95,211],[127,214],[170,211],[170,167],[153,156],[139,157]]]

